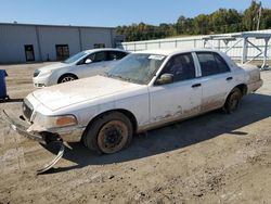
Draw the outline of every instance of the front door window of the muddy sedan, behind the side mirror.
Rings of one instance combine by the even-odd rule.
[[[191,53],[172,56],[164,67],[163,74],[172,74],[173,81],[195,78],[195,65]]]

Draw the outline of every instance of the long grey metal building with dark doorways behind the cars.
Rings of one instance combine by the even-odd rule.
[[[115,28],[0,23],[0,63],[64,60],[79,51],[112,48]]]

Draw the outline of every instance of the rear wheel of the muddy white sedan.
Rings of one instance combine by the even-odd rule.
[[[225,100],[223,110],[225,113],[231,114],[237,110],[242,99],[242,92],[238,88],[234,88]]]

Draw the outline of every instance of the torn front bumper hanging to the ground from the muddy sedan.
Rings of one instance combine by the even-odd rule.
[[[62,139],[57,135],[53,135],[50,132],[30,132],[30,131],[27,131],[27,129],[29,127],[27,126],[26,123],[23,124],[23,122],[21,122],[18,119],[11,118],[5,113],[5,111],[3,111],[3,115],[5,116],[5,119],[11,125],[11,128],[13,130],[15,130],[16,132],[18,132],[20,135],[22,135],[28,139],[38,141],[39,143],[42,143],[42,144],[48,144],[48,143],[54,142],[55,144],[57,144],[60,146],[60,151],[59,151],[57,155],[49,164],[44,165],[41,169],[38,169],[37,174],[43,174],[43,173],[48,171],[57,163],[57,161],[60,161],[62,158],[62,156],[64,155],[65,145],[63,144]]]

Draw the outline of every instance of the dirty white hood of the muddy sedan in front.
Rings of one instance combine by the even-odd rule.
[[[104,76],[94,76],[36,90],[33,95],[46,107],[56,111],[91,100],[94,102],[101,98],[127,93],[142,87]]]

